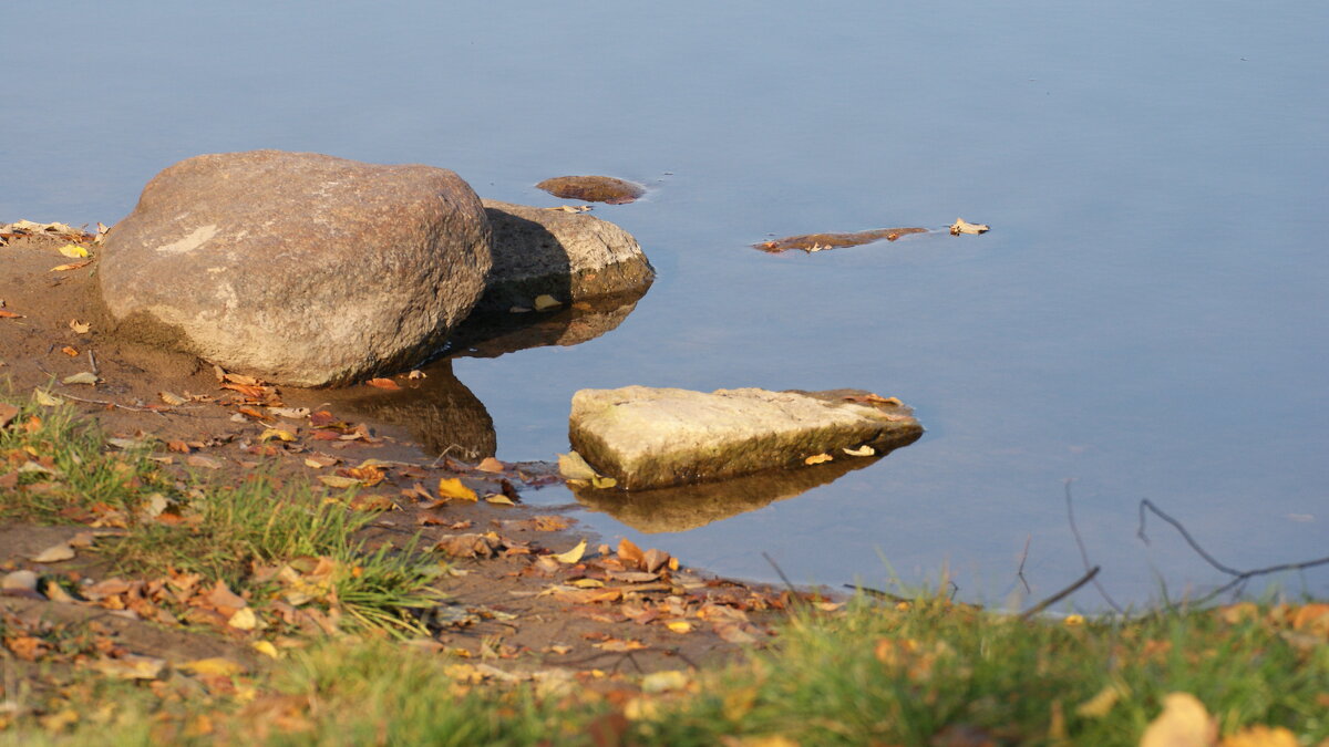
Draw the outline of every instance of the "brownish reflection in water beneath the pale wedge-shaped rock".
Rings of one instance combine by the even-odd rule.
[[[837,459],[815,467],[768,469],[723,482],[699,482],[654,490],[597,490],[589,485],[573,486],[573,494],[586,508],[607,513],[638,532],[647,534],[686,532],[803,494],[880,459]]]

